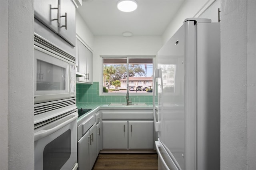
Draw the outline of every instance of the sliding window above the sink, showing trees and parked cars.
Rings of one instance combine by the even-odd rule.
[[[103,93],[152,92],[153,58],[103,57]]]

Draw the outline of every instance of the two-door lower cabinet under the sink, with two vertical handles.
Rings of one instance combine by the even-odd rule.
[[[153,121],[102,121],[102,149],[154,149]]]

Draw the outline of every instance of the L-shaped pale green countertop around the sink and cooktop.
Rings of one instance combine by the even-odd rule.
[[[135,103],[133,103],[135,104]],[[153,109],[153,103],[146,103],[147,106],[141,105],[130,105],[130,106],[109,106],[110,103],[76,103],[78,109],[92,109],[91,111],[87,112],[86,114],[82,115],[77,119],[77,122],[83,121],[86,117],[94,114],[99,110],[150,110]]]

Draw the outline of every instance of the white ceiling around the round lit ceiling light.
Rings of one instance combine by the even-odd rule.
[[[161,36],[184,0],[136,0],[133,12],[116,8],[118,0],[83,0],[78,12],[94,36]]]

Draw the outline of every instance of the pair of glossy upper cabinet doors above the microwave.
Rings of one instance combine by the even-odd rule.
[[[76,45],[76,6],[72,0],[34,0],[35,18]]]

